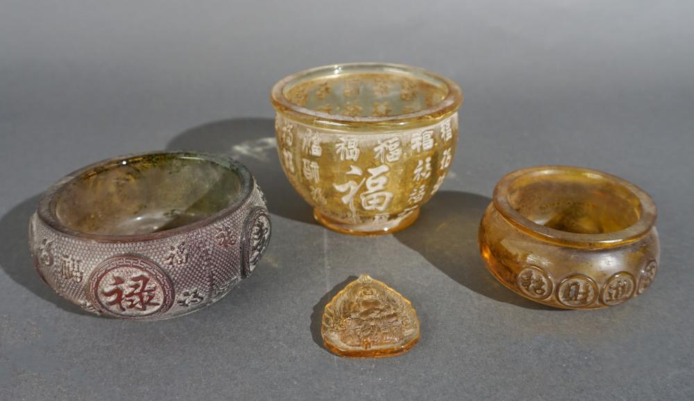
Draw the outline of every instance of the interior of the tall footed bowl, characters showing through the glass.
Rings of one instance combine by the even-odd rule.
[[[448,94],[443,80],[394,65],[325,67],[290,80],[282,94],[315,112],[350,117],[388,117],[418,112]]]

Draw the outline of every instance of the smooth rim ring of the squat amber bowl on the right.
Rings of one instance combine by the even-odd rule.
[[[631,194],[636,196],[639,202],[640,213],[638,220],[629,225],[627,228],[613,232],[604,232],[600,234],[582,234],[577,232],[568,232],[549,228],[545,225],[535,223],[527,219],[509,202],[509,189],[513,182],[523,176],[550,176],[552,173],[568,173],[587,178],[602,178],[627,189]],[[643,189],[637,187],[631,182],[605,173],[604,171],[586,169],[584,167],[572,167],[563,165],[547,165],[538,167],[527,167],[518,169],[508,173],[501,178],[494,188],[493,205],[500,214],[517,228],[532,234],[534,237],[539,237],[545,241],[550,241],[555,244],[574,246],[577,248],[607,248],[629,244],[641,237],[645,236],[654,228],[657,220],[657,207],[651,196]]]

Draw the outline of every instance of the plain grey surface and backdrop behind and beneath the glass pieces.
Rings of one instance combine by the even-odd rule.
[[[691,1],[0,1],[0,399],[693,399],[692,17]],[[273,147],[271,85],[353,61],[426,67],[466,97],[452,173],[399,234],[316,225]],[[161,148],[242,160],[266,191],[271,246],[196,314],[87,316],[33,271],[37,196]],[[476,234],[493,186],[550,163],[652,194],[661,270],[643,296],[566,312],[486,271]],[[416,307],[408,354],[320,345],[323,305],[362,272]]]

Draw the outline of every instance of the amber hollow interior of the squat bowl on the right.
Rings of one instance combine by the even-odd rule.
[[[578,234],[624,230],[641,216],[638,196],[595,173],[550,170],[521,176],[509,187],[509,204],[526,219]]]

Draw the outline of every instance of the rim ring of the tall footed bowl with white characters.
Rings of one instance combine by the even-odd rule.
[[[342,114],[332,114],[321,112],[319,110],[313,110],[310,108],[305,108],[303,106],[297,105],[287,99],[284,94],[285,86],[289,83],[294,82],[304,78],[305,76],[316,74],[321,71],[325,72],[325,76],[328,75],[338,75],[342,73],[348,73],[354,69],[382,69],[384,72],[397,70],[400,73],[409,74],[415,76],[416,74],[421,74],[437,80],[442,83],[448,93],[441,99],[438,103],[434,105],[417,110],[415,112],[394,114],[391,116],[383,117],[360,117],[360,116],[345,116]],[[310,69],[305,69],[299,71],[295,74],[291,74],[279,80],[271,89],[270,101],[275,108],[276,112],[289,114],[292,117],[304,121],[308,121],[312,125],[323,125],[341,128],[355,128],[355,127],[369,127],[375,128],[378,126],[398,126],[402,128],[407,128],[409,126],[419,126],[431,123],[432,120],[443,119],[450,116],[451,114],[457,112],[460,105],[463,103],[463,92],[460,87],[453,80],[435,74],[428,69],[423,69],[420,67],[412,67],[404,64],[393,64],[384,62],[350,62],[341,63],[333,65],[323,65],[321,67],[314,67]],[[378,133],[378,132],[376,132]]]

